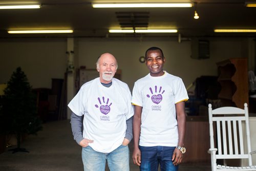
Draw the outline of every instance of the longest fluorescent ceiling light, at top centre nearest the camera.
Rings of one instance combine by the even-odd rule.
[[[192,7],[191,3],[113,3],[92,4],[93,8],[157,8],[157,7]]]

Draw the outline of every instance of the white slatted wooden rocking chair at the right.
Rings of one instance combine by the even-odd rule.
[[[251,154],[256,153],[256,151],[251,152],[247,103],[244,103],[244,110],[235,107],[212,110],[211,104],[208,107],[210,124],[210,149],[208,153],[211,155],[211,170],[256,170],[256,165],[252,165],[251,158]],[[214,131],[214,122],[216,122],[216,131]],[[245,126],[242,126],[242,122],[245,122]],[[244,151],[243,127],[246,131],[248,153]],[[224,161],[225,159],[247,159],[249,166],[217,165],[217,159],[224,159]]]

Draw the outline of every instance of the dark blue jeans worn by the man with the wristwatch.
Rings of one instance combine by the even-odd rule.
[[[141,152],[141,171],[157,171],[160,164],[161,171],[177,171],[172,157],[175,147],[169,146],[139,146]]]

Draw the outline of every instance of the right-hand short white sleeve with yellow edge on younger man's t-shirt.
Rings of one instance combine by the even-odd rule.
[[[187,90],[181,78],[177,80],[176,87],[174,89],[175,93],[175,103],[180,101],[188,100]]]

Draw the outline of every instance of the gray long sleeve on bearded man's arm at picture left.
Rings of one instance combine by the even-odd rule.
[[[82,126],[82,116],[78,116],[76,114],[74,114],[73,112],[71,113],[71,129],[72,129],[72,133],[74,136],[74,140],[79,144],[81,142],[81,140],[83,139],[82,137],[82,130],[83,130],[83,126]]]

